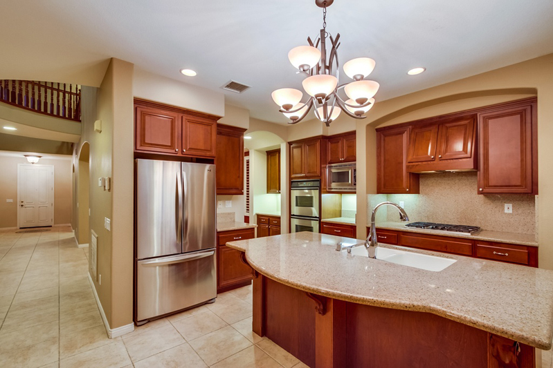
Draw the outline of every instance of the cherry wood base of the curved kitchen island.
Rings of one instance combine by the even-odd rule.
[[[306,293],[256,271],[253,331],[309,367],[535,367],[529,345],[432,313]]]

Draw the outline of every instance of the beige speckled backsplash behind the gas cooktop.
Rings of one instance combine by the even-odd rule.
[[[420,175],[420,194],[370,195],[368,214],[374,204],[387,197],[398,204],[404,201],[411,221],[472,225],[509,233],[536,233],[536,196],[479,195],[477,190],[475,172]],[[377,197],[372,206],[371,197]],[[513,213],[505,213],[507,203],[513,205]],[[399,221],[397,211],[388,209],[386,216],[388,221]]]

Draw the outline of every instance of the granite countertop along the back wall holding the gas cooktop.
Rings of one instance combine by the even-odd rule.
[[[536,235],[534,234],[504,233],[502,231],[482,230],[480,231],[480,233],[476,235],[468,235],[468,234],[454,233],[453,231],[417,229],[412,227],[406,227],[405,224],[408,224],[408,222],[392,222],[392,221],[377,222],[377,229],[409,231],[411,233],[451,236],[453,238],[487,240],[489,242],[538,246],[538,242],[536,242]]]

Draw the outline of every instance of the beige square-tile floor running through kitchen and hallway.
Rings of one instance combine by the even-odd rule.
[[[109,339],[87,257],[69,227],[0,231],[0,367],[307,367],[251,331],[251,286]]]

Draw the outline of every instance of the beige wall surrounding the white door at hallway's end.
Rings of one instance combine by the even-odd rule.
[[[0,228],[17,227],[17,164],[27,159],[13,153],[0,153]],[[19,157],[21,156],[21,157]],[[45,155],[46,156],[46,155]],[[54,224],[71,223],[71,156],[51,155],[40,159],[40,165],[54,166]],[[13,200],[6,203],[7,199]]]

